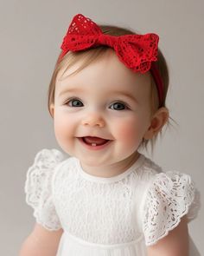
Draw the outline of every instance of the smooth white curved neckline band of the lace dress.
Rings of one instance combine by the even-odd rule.
[[[99,176],[86,173],[85,170],[80,165],[80,160],[75,158],[76,165],[78,167],[78,170],[81,176],[83,176],[86,180],[95,181],[99,183],[111,183],[111,182],[123,180],[126,176],[131,174],[134,170],[137,170],[138,167],[141,167],[143,165],[144,159],[145,159],[145,156],[143,154],[140,154],[139,157],[137,158],[137,161],[135,161],[131,165],[131,167],[127,168],[122,174],[118,174],[118,175],[107,178],[107,177],[99,177]]]

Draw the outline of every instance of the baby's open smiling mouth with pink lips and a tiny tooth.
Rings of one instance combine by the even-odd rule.
[[[105,148],[108,144],[110,144],[110,140],[105,140],[99,137],[78,137],[79,141],[88,149],[98,150]]]

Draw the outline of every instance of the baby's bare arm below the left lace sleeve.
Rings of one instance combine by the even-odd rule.
[[[48,231],[40,224],[35,224],[34,230],[24,240],[20,256],[55,256],[63,230]]]

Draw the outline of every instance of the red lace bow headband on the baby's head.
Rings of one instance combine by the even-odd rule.
[[[67,30],[67,35],[63,39],[61,44],[62,52],[58,62],[61,62],[61,59],[69,50],[80,51],[99,45],[109,46],[115,50],[119,60],[134,72],[145,73],[150,70],[156,82],[159,105],[162,106],[163,80],[154,63],[157,60],[158,41],[159,36],[153,33],[124,36],[103,34],[96,23],[93,23],[91,19],[82,14],[78,14],[73,17],[73,21]]]

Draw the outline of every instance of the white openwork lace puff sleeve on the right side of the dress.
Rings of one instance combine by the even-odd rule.
[[[200,209],[200,193],[188,174],[156,174],[143,207],[143,233],[146,246],[156,244],[187,214],[188,222]]]

